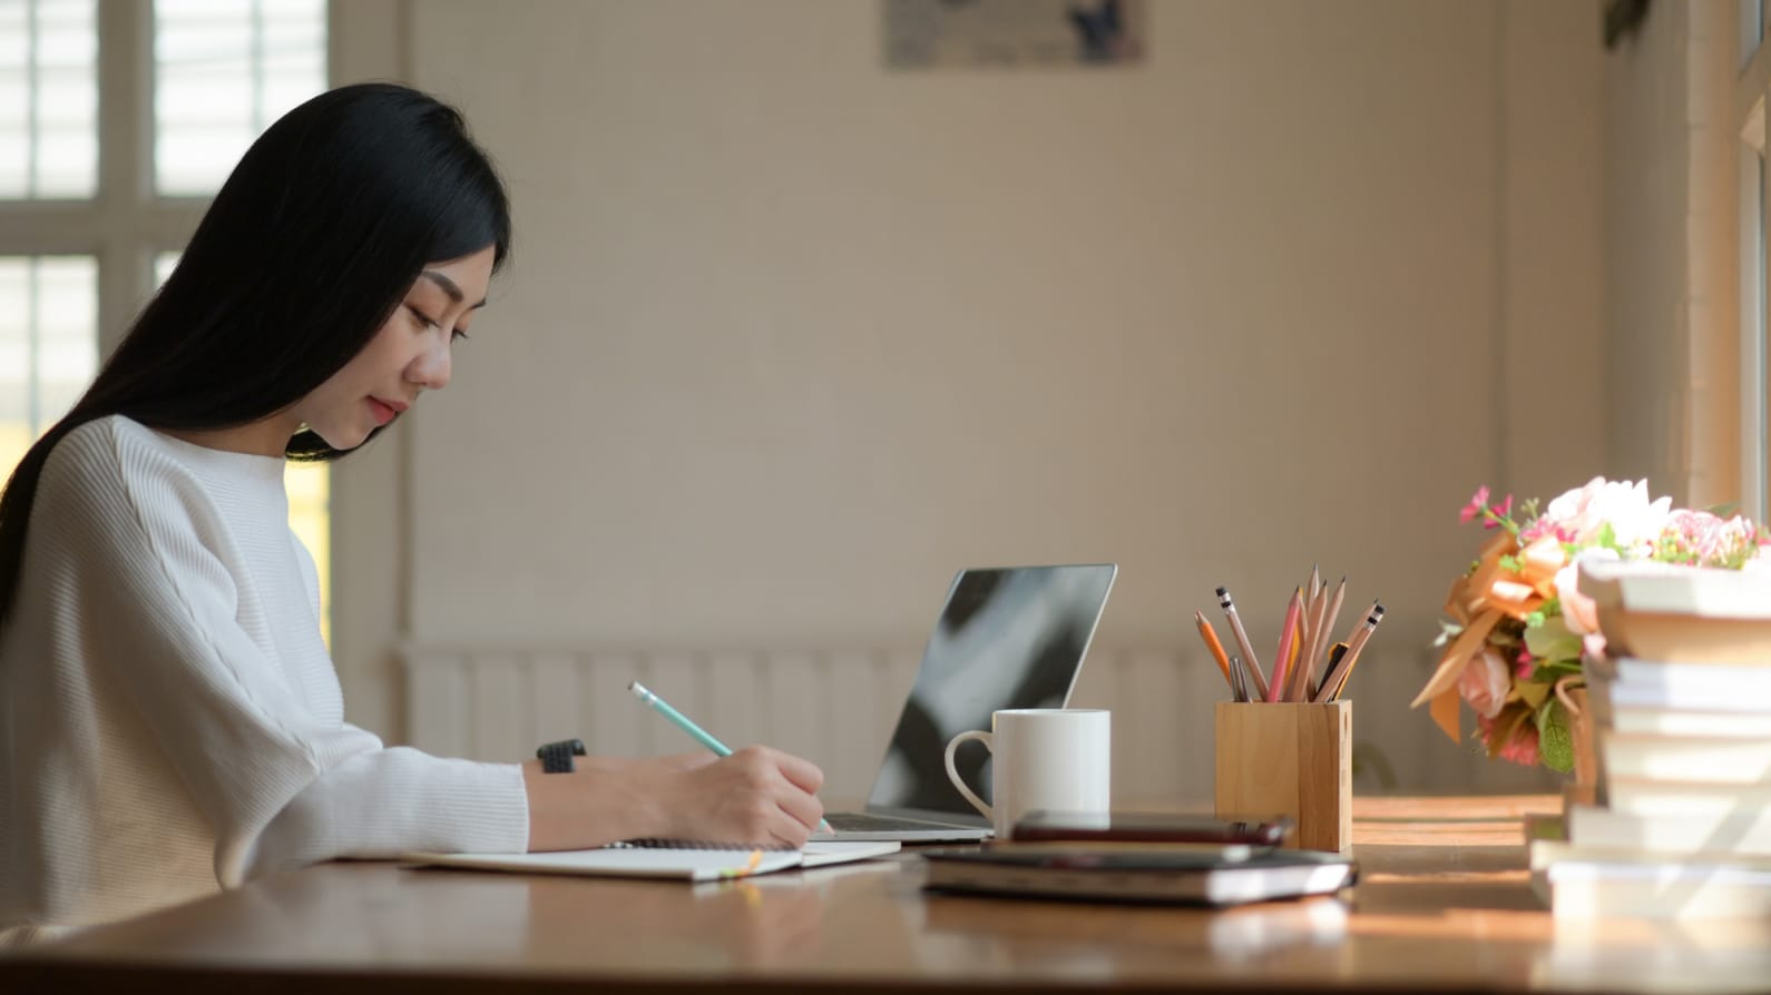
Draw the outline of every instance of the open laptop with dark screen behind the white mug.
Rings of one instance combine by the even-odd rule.
[[[960,570],[923,652],[866,811],[825,813],[815,839],[939,843],[985,839],[983,818],[947,781],[947,740],[988,729],[999,708],[1063,708],[1094,639],[1112,563]],[[955,756],[965,783],[990,802],[990,754]]]

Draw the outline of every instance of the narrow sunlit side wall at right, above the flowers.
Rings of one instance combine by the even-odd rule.
[[[1656,4],[1605,60],[1606,273],[1620,467],[1741,499],[1736,4]]]

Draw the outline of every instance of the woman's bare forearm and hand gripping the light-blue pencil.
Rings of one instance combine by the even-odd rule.
[[[802,846],[824,814],[824,772],[770,747],[657,758],[579,758],[572,774],[524,761],[530,850],[616,839],[698,839]]]

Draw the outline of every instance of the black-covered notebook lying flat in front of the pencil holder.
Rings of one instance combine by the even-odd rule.
[[[928,860],[923,887],[930,891],[1094,901],[1240,905],[1332,894],[1358,880],[1350,857],[1314,850],[1218,853],[1079,845],[940,848],[923,850],[923,857]]]

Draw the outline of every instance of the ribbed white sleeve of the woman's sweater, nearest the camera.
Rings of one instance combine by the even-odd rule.
[[[292,542],[287,524],[257,528],[275,508],[253,505],[255,482],[234,492],[225,460],[186,474],[175,448],[133,443],[64,439],[39,485],[37,506],[55,508],[41,526],[57,533],[44,538],[67,554],[53,563],[83,602],[64,636],[177,770],[214,832],[216,880],[331,857],[524,850],[519,767],[386,749],[342,721],[324,653],[280,652],[285,627],[315,620],[305,593],[273,597],[294,582],[244,590],[267,563],[298,570],[276,547]]]

